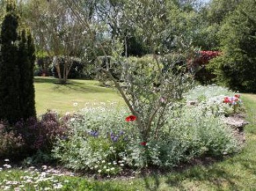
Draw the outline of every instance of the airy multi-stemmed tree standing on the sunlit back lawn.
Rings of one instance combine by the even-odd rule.
[[[27,24],[31,26],[40,51],[45,51],[53,61],[60,83],[67,83],[75,57],[85,54],[86,31],[78,25],[71,9],[65,2],[29,1]],[[59,57],[64,58],[61,70]]]

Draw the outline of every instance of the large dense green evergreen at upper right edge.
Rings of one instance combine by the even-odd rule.
[[[209,65],[217,82],[235,91],[256,92],[255,6],[255,1],[244,1],[225,19],[220,32],[223,54]]]

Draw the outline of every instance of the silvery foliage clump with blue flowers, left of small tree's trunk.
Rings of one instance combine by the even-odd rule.
[[[69,168],[116,173],[123,166],[118,161],[124,160],[129,140],[138,134],[131,123],[125,122],[125,113],[88,110],[83,116],[71,118],[69,134],[55,144],[55,157]]]

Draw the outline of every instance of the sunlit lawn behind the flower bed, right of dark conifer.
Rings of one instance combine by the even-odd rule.
[[[97,106],[99,102],[123,104],[115,89],[100,87],[98,81],[70,80],[67,85],[59,85],[51,77],[35,77],[35,102],[37,114],[47,109],[65,114],[85,108],[85,104]]]

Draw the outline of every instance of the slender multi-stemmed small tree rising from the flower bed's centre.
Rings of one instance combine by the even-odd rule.
[[[77,1],[65,0],[70,9],[81,21],[88,31],[88,36],[93,41],[94,33],[87,17],[81,17],[82,10],[79,9]],[[183,91],[189,87],[189,75],[184,73],[175,73],[175,63],[181,59],[177,55],[189,55],[191,50],[185,47],[185,43],[179,41],[176,37],[175,44],[177,52],[173,53],[163,43],[164,37],[171,31],[173,26],[169,23],[172,16],[167,14],[167,10],[175,6],[169,1],[125,1],[124,15],[125,23],[133,23],[133,28],[137,29],[139,37],[147,42],[152,55],[145,61],[140,59],[127,59],[122,56],[123,42],[120,39],[113,39],[111,44],[111,63],[115,66],[118,63],[121,67],[104,67],[101,65],[97,52],[95,51],[95,59],[98,61],[99,71],[103,72],[106,80],[110,80],[115,84],[117,90],[125,100],[131,118],[136,119],[137,128],[139,129],[141,140],[143,142],[159,138],[159,132],[169,118],[169,113],[173,108],[177,107],[177,100],[181,100]],[[169,7],[168,7],[169,6]],[[169,9],[168,9],[169,8]],[[163,17],[165,16],[166,17]],[[166,19],[166,20],[165,20]],[[100,24],[100,23],[99,23]],[[100,28],[100,27],[99,27]],[[171,41],[169,37],[166,38]],[[102,44],[95,43],[97,47],[101,47],[105,59],[107,59],[106,51]],[[184,56],[186,57],[186,56]],[[113,70],[121,69],[123,80],[117,81],[113,76]],[[179,69],[177,71],[180,71]]]

